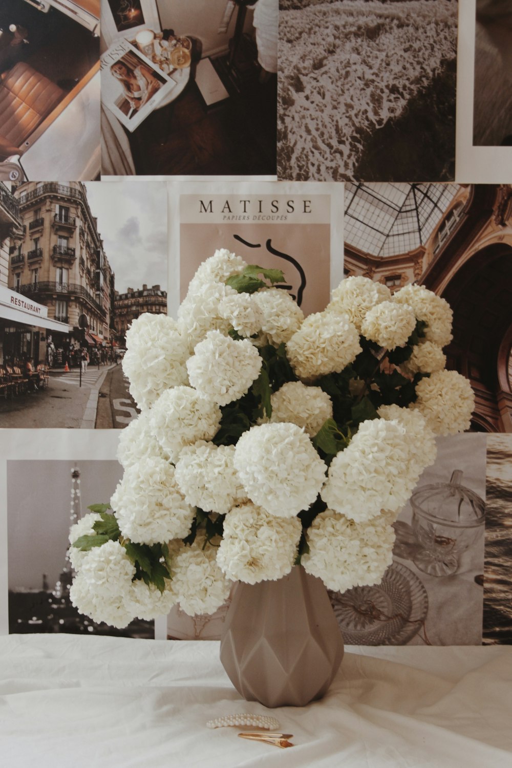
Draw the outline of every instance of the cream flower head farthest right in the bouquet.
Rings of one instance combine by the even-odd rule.
[[[424,415],[434,435],[456,435],[470,428],[474,392],[457,371],[438,371],[421,379],[416,395],[409,408]]]

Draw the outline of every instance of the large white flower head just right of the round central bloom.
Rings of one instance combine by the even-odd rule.
[[[348,447],[332,459],[322,498],[356,522],[405,505],[421,472],[405,426],[396,420],[362,422]]]

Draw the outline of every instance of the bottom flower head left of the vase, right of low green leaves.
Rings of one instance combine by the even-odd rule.
[[[216,561],[218,547],[197,535],[193,545],[170,547],[173,594],[189,616],[214,614],[227,600],[233,584]]]

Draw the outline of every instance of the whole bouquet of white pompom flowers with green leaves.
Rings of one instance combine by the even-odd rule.
[[[294,564],[335,591],[378,583],[434,435],[469,427],[446,301],[348,277],[305,318],[283,279],[218,250],[177,319],[130,326],[124,477],[70,534],[71,601],[94,621],[213,613],[233,581]]]

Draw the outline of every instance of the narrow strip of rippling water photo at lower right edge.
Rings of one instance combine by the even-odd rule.
[[[512,435],[487,437],[484,645],[512,643]]]

